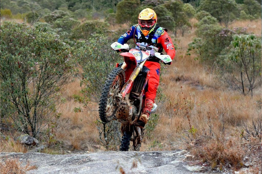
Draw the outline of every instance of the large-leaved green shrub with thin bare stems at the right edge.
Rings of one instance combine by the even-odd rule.
[[[261,38],[256,35],[234,35],[230,46],[219,57],[218,70],[229,85],[243,94],[250,92],[253,96],[257,79],[261,84]]]

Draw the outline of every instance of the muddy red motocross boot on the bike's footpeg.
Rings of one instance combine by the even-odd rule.
[[[150,116],[150,112],[152,110],[152,107],[154,105],[154,101],[149,99],[149,98],[146,98],[145,99],[145,103],[144,103],[144,107],[142,109],[142,113],[139,117],[139,127],[140,128],[144,128],[145,127],[145,124],[148,122],[148,119],[149,119],[149,116]]]

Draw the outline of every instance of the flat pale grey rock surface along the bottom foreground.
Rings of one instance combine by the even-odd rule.
[[[19,158],[36,165],[27,173],[204,173],[189,166],[183,151],[120,152],[50,155],[44,153],[0,153],[1,160]]]

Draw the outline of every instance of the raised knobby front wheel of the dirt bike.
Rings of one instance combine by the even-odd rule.
[[[117,95],[125,82],[125,72],[122,68],[114,68],[105,82],[99,103],[99,117],[102,122],[110,122],[118,109]]]

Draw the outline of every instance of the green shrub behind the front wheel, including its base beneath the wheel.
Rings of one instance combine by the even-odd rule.
[[[77,59],[77,66],[82,70],[81,95],[74,97],[84,108],[88,108],[90,100],[98,103],[107,75],[117,62],[123,62],[118,53],[110,47],[115,40],[114,33],[113,36],[109,36],[109,33],[107,36],[95,34],[89,40],[78,41],[73,48],[72,53]],[[121,139],[120,123],[97,121],[96,127],[99,130],[101,145],[116,150]]]

